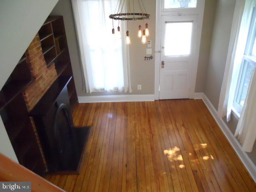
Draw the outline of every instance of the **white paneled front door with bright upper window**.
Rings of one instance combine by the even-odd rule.
[[[159,99],[190,97],[197,15],[161,17]]]

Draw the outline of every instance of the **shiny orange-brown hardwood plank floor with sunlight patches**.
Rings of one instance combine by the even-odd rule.
[[[256,191],[202,100],[77,104],[93,125],[79,175],[47,175],[66,191]]]

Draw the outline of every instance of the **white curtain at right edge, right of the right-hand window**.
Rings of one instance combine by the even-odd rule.
[[[256,140],[256,72],[252,75],[248,94],[244,102],[244,107],[236,127],[235,136],[238,136],[242,149],[252,152]]]

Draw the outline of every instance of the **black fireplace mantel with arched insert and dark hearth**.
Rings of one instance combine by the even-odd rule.
[[[78,174],[90,127],[75,128],[67,85],[72,76],[60,76],[29,113],[51,173]]]

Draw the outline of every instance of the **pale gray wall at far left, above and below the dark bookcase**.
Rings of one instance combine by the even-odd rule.
[[[0,90],[57,1],[0,1]],[[1,118],[0,152],[17,161]]]

